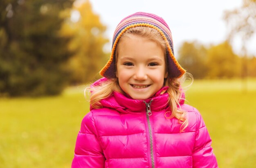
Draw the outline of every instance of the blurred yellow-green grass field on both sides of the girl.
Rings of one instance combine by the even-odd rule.
[[[204,118],[220,168],[256,165],[256,79],[194,81],[187,103]],[[70,168],[88,102],[84,87],[61,96],[0,98],[0,168]]]

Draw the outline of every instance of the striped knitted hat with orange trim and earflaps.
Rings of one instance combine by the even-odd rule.
[[[123,20],[121,20],[121,22],[117,25],[113,36],[112,52],[110,55],[110,59],[108,60],[108,63],[104,66],[104,68],[102,68],[100,74],[108,79],[116,78],[115,49],[117,46],[117,42],[125,31],[127,31],[129,28],[137,26],[154,28],[160,33],[160,35],[162,35],[163,39],[168,43],[166,49],[168,75],[170,78],[181,77],[186,71],[180,66],[180,64],[177,62],[173,55],[173,39],[170,28],[162,17],[144,12],[137,12],[129,15],[128,17],[125,17]]]

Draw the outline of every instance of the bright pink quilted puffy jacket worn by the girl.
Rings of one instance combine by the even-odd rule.
[[[78,133],[72,168],[218,168],[197,109],[180,102],[189,126],[166,119],[168,94],[133,100],[114,92],[91,109]],[[151,113],[150,113],[151,111]]]

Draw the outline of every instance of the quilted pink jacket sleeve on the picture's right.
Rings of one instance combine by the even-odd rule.
[[[211,147],[211,137],[201,114],[196,110],[198,122],[193,149],[193,168],[218,168],[216,157]]]

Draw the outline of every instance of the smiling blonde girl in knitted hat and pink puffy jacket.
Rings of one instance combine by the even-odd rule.
[[[124,18],[90,87],[72,168],[218,168],[202,116],[184,104],[184,73],[161,17]]]

